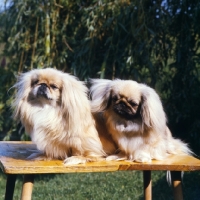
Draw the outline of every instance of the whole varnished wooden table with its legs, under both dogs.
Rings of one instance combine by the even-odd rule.
[[[21,199],[30,200],[34,174],[58,174],[79,172],[113,172],[113,171],[143,171],[144,199],[152,199],[151,171],[171,171],[174,198],[183,199],[181,186],[181,171],[200,170],[200,160],[192,156],[170,156],[163,161],[137,163],[129,161],[102,161],[86,164],[64,166],[61,160],[33,161],[26,158],[36,152],[36,146],[31,142],[0,142],[0,167],[7,175],[5,199],[13,198],[17,174],[24,175]]]

